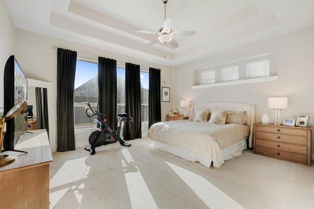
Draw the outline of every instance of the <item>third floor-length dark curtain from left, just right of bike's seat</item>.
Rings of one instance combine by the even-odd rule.
[[[126,63],[126,113],[133,124],[124,124],[124,139],[142,138],[140,66]]]

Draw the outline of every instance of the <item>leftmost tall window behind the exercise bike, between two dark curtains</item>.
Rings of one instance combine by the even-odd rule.
[[[90,128],[91,120],[86,116],[82,102],[89,102],[97,110],[98,102],[98,63],[77,61],[74,82],[74,126]],[[96,123],[92,120],[92,126]]]

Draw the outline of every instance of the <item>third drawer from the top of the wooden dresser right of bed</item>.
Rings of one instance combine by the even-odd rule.
[[[283,142],[256,139],[256,146],[268,147],[271,149],[283,150],[283,151],[288,151],[288,152],[295,152],[295,153],[304,154],[304,155],[308,154],[307,146],[300,146],[300,145],[288,144],[288,143],[283,143]]]

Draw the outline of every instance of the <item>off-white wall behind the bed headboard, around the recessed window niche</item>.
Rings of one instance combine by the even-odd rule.
[[[204,89],[192,89],[193,70],[218,66],[264,53],[276,52],[277,81],[240,84]],[[288,109],[282,117],[310,116],[309,126],[314,125],[314,27],[289,33],[239,48],[223,51],[215,56],[187,63],[174,68],[174,108],[180,108],[180,100],[191,103],[210,101],[244,102],[256,105],[256,122],[263,114],[275,121],[274,112],[268,109],[268,97],[288,97]],[[179,79],[180,78],[180,79]],[[312,136],[312,153],[314,137]],[[312,155],[313,156],[313,155]],[[312,157],[313,158],[313,157]]]

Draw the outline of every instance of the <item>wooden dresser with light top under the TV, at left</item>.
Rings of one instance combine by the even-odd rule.
[[[15,147],[28,152],[6,151],[17,160],[0,167],[0,209],[49,209],[49,163],[52,154],[46,129],[25,133]]]

